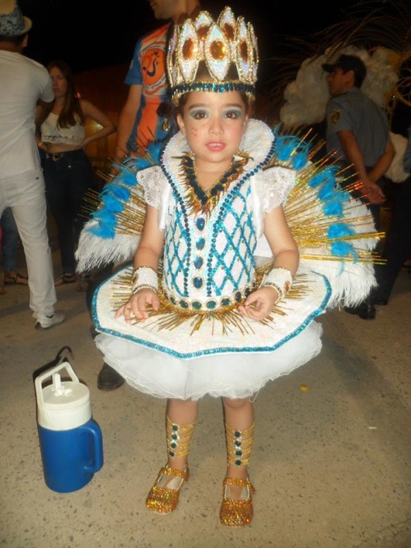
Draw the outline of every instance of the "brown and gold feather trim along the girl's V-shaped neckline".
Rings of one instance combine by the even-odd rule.
[[[217,179],[214,185],[208,190],[199,185],[195,171],[195,156],[185,153],[180,162],[180,175],[186,190],[186,204],[189,214],[203,213],[209,215],[219,203],[222,194],[227,192],[230,184],[238,179],[244,171],[244,166],[249,161],[245,153],[238,153],[232,161],[229,169]]]

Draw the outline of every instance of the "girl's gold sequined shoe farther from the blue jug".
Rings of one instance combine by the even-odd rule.
[[[238,485],[242,487],[241,499],[229,498],[229,486]],[[244,527],[249,525],[253,519],[253,499],[251,494],[256,490],[249,479],[237,477],[226,477],[223,481],[223,501],[220,508],[220,521],[229,527]]]

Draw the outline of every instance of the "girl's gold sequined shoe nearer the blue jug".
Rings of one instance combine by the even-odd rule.
[[[160,469],[155,484],[147,495],[147,508],[158,514],[173,512],[178,505],[179,492],[182,486],[188,482],[189,477],[188,467],[182,472],[181,470],[164,466]]]

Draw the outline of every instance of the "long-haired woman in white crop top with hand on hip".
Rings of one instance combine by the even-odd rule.
[[[62,260],[62,275],[56,286],[73,284],[75,247],[86,217],[83,199],[93,184],[93,172],[86,148],[98,139],[116,131],[110,118],[95,105],[79,99],[70,66],[55,60],[47,66],[53,82],[55,101],[45,108],[40,105],[36,123],[40,127],[38,147],[45,152],[43,169],[46,196],[58,229]],[[95,121],[101,129],[86,137],[86,119]],[[87,289],[88,273],[80,273],[78,291]]]

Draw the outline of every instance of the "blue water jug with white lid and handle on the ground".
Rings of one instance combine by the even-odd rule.
[[[66,369],[71,381],[62,381]],[[53,384],[42,386],[52,377]],[[90,390],[69,362],[36,377],[38,438],[46,485],[58,493],[84,487],[103,466],[103,438],[92,419]]]

